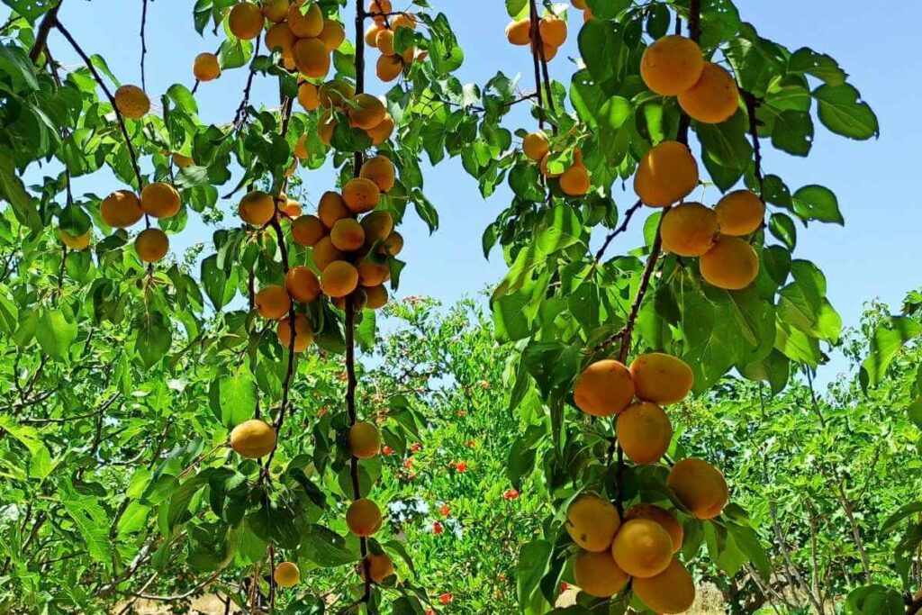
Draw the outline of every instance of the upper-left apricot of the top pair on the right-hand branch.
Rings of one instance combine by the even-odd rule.
[[[644,51],[640,76],[646,87],[661,96],[675,96],[690,89],[704,68],[698,43],[684,36],[664,36]]]

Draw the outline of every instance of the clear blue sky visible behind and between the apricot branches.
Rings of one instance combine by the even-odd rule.
[[[195,33],[193,4],[191,0],[156,0],[149,6],[148,92],[154,101],[175,81],[191,85],[195,54],[218,46],[216,39],[202,40]],[[808,45],[831,54],[877,112],[879,140],[845,140],[817,123],[810,158],[794,158],[766,147],[764,167],[783,177],[792,190],[821,183],[838,196],[845,227],[816,224],[809,230],[798,228],[796,256],[809,258],[826,272],[830,297],[845,325],[856,325],[862,303],[873,297],[897,309],[905,291],[919,284],[922,265],[917,246],[922,239],[922,195],[911,188],[922,163],[922,122],[916,119],[918,101],[922,101],[922,65],[913,53],[922,2],[890,2],[886,10],[869,8],[857,0],[738,0],[737,4],[743,19],[755,24],[762,36],[792,50]],[[458,74],[463,81],[482,84],[502,70],[510,76],[521,74],[524,87],[530,86],[526,48],[511,47],[503,35],[508,18],[502,0],[434,0],[431,5],[448,16],[466,50]],[[139,83],[140,7],[140,0],[64,0],[60,17],[89,53],[106,57],[124,82]],[[395,7],[403,6],[395,0]],[[0,10],[0,17],[6,17],[6,10]],[[577,55],[574,34],[582,22],[578,11],[572,10],[570,18],[568,53],[560,53],[550,65],[551,77],[565,82],[573,72],[567,56]],[[59,35],[53,34],[50,44],[65,65],[77,61]],[[373,75],[369,77],[370,90],[384,91]],[[230,121],[244,79],[245,69],[239,69],[202,85],[198,101],[204,121]],[[255,99],[272,104],[274,91],[266,84],[257,85]],[[516,112],[511,119],[515,122],[511,127],[532,124],[525,112]],[[332,182],[325,170],[305,175],[305,179],[314,197]],[[408,267],[398,294],[425,294],[453,302],[504,274],[498,251],[489,262],[483,259],[480,236],[508,202],[509,192],[500,189],[485,202],[459,160],[429,170],[425,182],[427,195],[438,207],[441,228],[430,236],[413,214],[408,215],[403,230],[407,248],[402,256]],[[106,178],[88,179],[77,183],[77,194],[103,195],[121,187],[111,183]],[[705,195],[709,203],[713,198],[713,194]],[[233,205],[222,207],[230,211]],[[639,229],[641,225],[635,226]],[[173,245],[182,249],[194,242],[208,242],[210,233],[191,222],[172,240]],[[621,247],[629,249],[638,238],[639,231],[626,236]],[[827,378],[832,375],[828,372]]]

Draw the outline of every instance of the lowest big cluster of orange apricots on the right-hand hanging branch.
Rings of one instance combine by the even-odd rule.
[[[616,417],[615,433],[624,454],[639,465],[655,464],[672,439],[662,406],[688,396],[693,382],[683,361],[653,352],[636,358],[630,368],[614,360],[590,364],[576,380],[573,400],[594,417]],[[667,485],[683,512],[696,519],[713,519],[727,505],[726,480],[702,459],[675,464]],[[587,594],[610,597],[632,580],[633,593],[657,613],[691,608],[695,587],[676,558],[683,539],[676,512],[639,503],[622,518],[608,500],[583,493],[570,503],[565,527],[578,547],[574,580]]]

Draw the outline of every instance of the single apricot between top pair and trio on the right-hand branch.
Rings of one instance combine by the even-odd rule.
[[[679,141],[663,141],[646,153],[634,175],[634,192],[644,205],[667,207],[698,185],[698,163]]]

